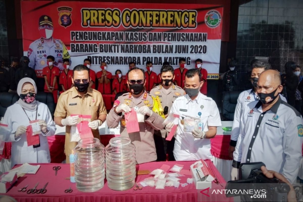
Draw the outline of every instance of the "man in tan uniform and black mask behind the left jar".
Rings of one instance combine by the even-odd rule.
[[[77,145],[77,142],[70,141],[70,131],[71,126],[77,123],[79,116],[71,117],[71,114],[91,115],[88,127],[92,129],[94,137],[100,140],[98,127],[105,121],[107,113],[101,93],[88,88],[90,82],[89,69],[84,65],[75,66],[72,77],[74,87],[62,93],[58,100],[54,120],[57,125],[66,126],[64,147],[66,163],[69,163],[69,155]]]

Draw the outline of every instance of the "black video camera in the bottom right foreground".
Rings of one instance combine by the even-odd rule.
[[[290,191],[283,181],[267,178],[261,171],[262,162],[242,163],[239,180],[228,181],[226,197],[241,196],[241,201],[287,201]]]

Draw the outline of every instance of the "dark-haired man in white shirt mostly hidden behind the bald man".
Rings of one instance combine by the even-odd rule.
[[[270,69],[270,65],[267,62],[262,62],[262,61],[255,61],[251,65],[251,77],[250,81],[253,86],[252,89],[243,91],[240,93],[237,101],[237,106],[235,109],[235,116],[234,116],[234,121],[232,125],[232,130],[231,130],[231,140],[229,143],[229,148],[228,148],[228,154],[229,157],[233,158],[233,152],[235,151],[235,147],[237,144],[238,136],[240,133],[240,116],[242,114],[242,109],[248,104],[251,103],[252,101],[259,100],[259,96],[257,93],[257,82],[259,79],[260,74],[265,71]],[[286,98],[280,94],[280,97],[283,101],[286,101]]]

